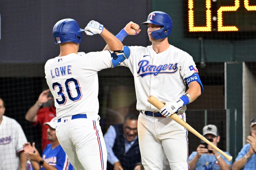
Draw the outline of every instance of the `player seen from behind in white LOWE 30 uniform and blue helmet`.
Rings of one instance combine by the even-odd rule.
[[[78,53],[82,31],[100,34],[118,54]],[[45,78],[55,99],[56,136],[75,169],[105,170],[107,150],[99,125],[97,72],[119,65],[129,57],[130,49],[93,20],[80,29],[74,19],[62,19],[53,27],[53,36],[60,44],[60,55],[46,62]]]

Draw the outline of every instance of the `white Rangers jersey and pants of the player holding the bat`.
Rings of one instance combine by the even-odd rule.
[[[156,53],[152,45],[130,47],[131,55],[121,65],[134,76],[138,118],[138,137],[142,164],[147,170],[163,169],[163,150],[171,169],[188,169],[188,131],[170,118],[153,117],[144,111],[158,111],[147,99],[150,95],[161,101],[173,101],[185,94],[184,79],[196,73],[196,65],[188,53],[172,45]],[[186,121],[186,106],[178,115]],[[148,149],[152,148],[152,149]]]

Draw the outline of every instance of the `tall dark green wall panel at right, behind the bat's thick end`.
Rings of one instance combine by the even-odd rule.
[[[243,63],[228,62],[226,74],[226,109],[230,109],[229,153],[234,157],[243,147]],[[234,161],[234,160],[233,160]]]

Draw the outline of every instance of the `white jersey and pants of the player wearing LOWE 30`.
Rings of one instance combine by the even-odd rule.
[[[56,136],[75,169],[106,170],[107,149],[98,115],[98,71],[111,66],[109,51],[72,53],[45,63],[45,78],[59,119]],[[78,114],[87,118],[72,119]]]

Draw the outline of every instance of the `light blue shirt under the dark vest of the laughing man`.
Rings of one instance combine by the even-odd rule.
[[[132,147],[132,144],[134,144],[134,142],[136,141],[136,139],[138,138],[138,136],[136,136],[132,142],[129,142],[126,140],[125,136],[124,136],[124,150],[125,153],[129,151],[129,149]],[[114,126],[110,125],[108,128],[107,133],[104,135],[104,140],[106,143],[106,148],[107,148],[107,152],[108,152],[108,162],[110,162],[112,165],[114,165],[117,161],[119,161],[119,159],[116,157],[116,155],[113,152],[113,146],[115,144],[115,140],[116,140],[116,130],[114,128]]]

